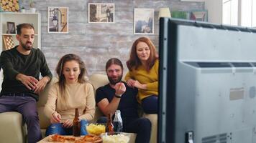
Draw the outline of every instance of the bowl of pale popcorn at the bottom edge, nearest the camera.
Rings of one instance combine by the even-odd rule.
[[[101,134],[103,143],[128,143],[130,134],[126,132],[106,132]]]

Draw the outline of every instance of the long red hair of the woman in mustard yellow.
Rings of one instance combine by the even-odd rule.
[[[140,42],[145,42],[145,44],[147,44],[147,46],[149,46],[150,48],[150,57],[147,59],[147,64],[146,64],[147,71],[150,71],[152,66],[154,66],[155,64],[155,60],[158,59],[157,52],[155,50],[155,46],[152,43],[152,41],[150,41],[150,39],[148,39],[147,37],[140,37],[139,39],[134,41],[134,43],[132,44],[129,60],[127,61],[127,67],[129,71],[132,71],[133,69],[137,69],[142,64],[139,57],[137,56],[137,51],[136,51],[137,44],[139,44]]]

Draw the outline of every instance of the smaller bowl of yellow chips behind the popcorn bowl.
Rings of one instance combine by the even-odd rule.
[[[101,133],[106,132],[106,124],[101,124],[101,123],[86,124],[86,131],[88,132],[88,134],[100,135]]]

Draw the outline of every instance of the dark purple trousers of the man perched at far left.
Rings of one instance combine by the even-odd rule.
[[[42,139],[37,113],[37,102],[28,94],[22,96],[2,96],[0,98],[0,113],[19,112],[27,124],[27,141],[35,143]]]

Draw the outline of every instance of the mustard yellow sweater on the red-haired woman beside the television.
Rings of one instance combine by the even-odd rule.
[[[129,71],[125,76],[124,79],[126,81],[128,79],[134,79],[141,84],[147,84],[147,89],[139,89],[138,102],[141,102],[142,99],[149,97],[150,95],[158,96],[158,66],[159,60],[157,59],[149,72],[147,72],[145,67],[141,65],[138,69]]]

